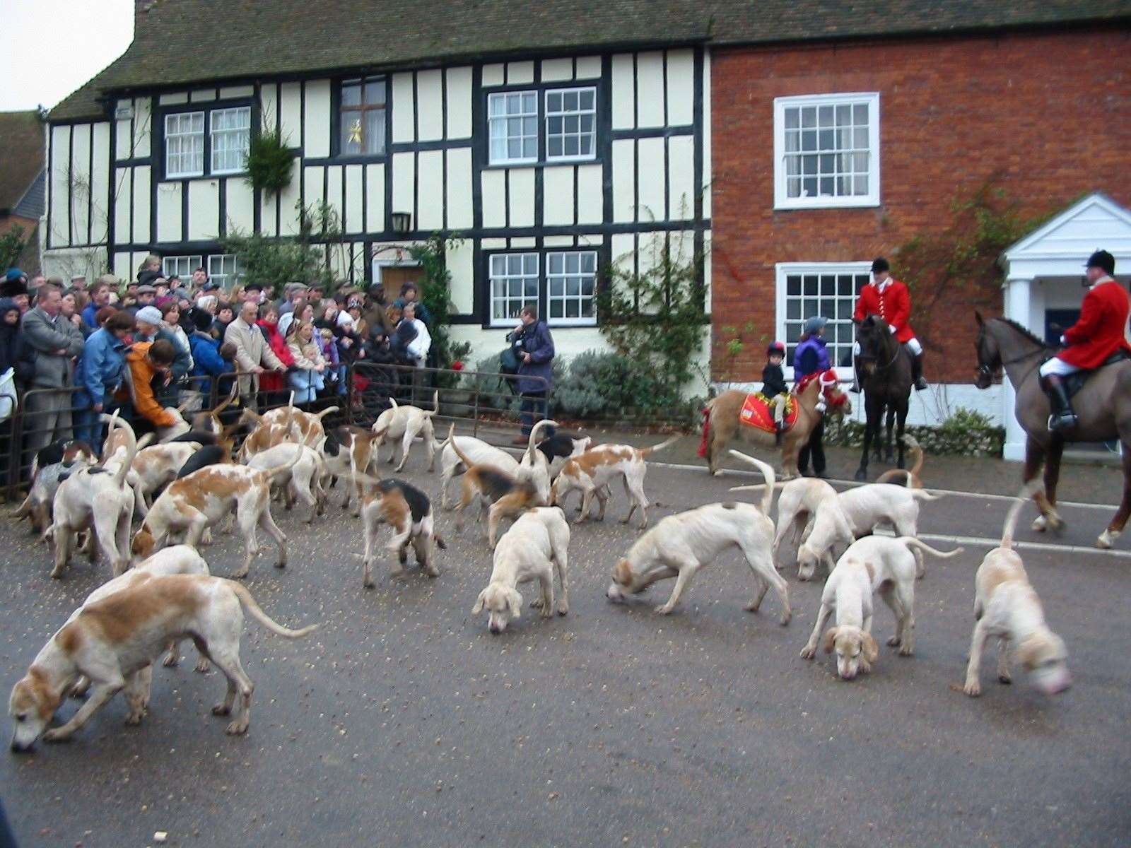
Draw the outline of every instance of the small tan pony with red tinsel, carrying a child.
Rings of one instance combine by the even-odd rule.
[[[817,412],[817,403],[822,395],[830,413],[852,412],[848,396],[840,391],[836,375],[831,371],[824,373],[828,378],[823,382],[823,375],[814,374],[796,393],[797,419],[782,434],[782,479],[800,476],[797,455],[809,443],[809,436],[821,418],[821,413]],[[726,445],[736,436],[766,448],[776,447],[774,433],[740,423],[739,416],[745,400],[746,392],[731,389],[707,401],[703,409],[703,448],[700,449],[700,456],[707,457],[707,468],[711,474],[719,473],[717,461],[724,456]]]

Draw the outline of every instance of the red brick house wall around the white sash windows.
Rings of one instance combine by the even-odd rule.
[[[890,256],[944,228],[956,194],[995,173],[1033,215],[1090,191],[1131,206],[1129,55],[1129,31],[713,51],[716,377],[759,378],[760,341],[776,327],[776,262]],[[774,98],[843,92],[880,93],[881,205],[775,211]],[[934,311],[948,318],[926,328],[930,378],[970,380],[970,312],[961,302]],[[723,373],[719,328],[748,322],[759,344]]]

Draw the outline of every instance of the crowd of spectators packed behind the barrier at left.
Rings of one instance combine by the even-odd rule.
[[[381,285],[226,289],[204,268],[166,278],[156,256],[129,282],[28,279],[18,268],[0,280],[0,375],[11,370],[23,398],[25,465],[60,439],[97,444],[102,413],[120,409],[146,433],[175,423],[169,407],[199,409],[233,381],[253,407],[286,403],[292,391],[301,406],[348,395],[372,383],[347,384],[354,363],[423,366],[430,330],[413,283],[391,303]]]

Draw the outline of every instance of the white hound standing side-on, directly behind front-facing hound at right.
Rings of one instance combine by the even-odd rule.
[[[922,488],[870,483],[840,492],[836,500],[822,501],[813,528],[797,551],[797,578],[812,578],[819,562],[831,572],[834,551],[839,545],[851,545],[881,525],[891,525],[897,536],[917,536],[920,501],[936,501],[941,496]],[[923,555],[917,550],[915,561],[922,578]]]

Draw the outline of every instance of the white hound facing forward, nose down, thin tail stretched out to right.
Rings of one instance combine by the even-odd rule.
[[[888,644],[899,648],[899,656],[915,651],[915,574],[914,552],[949,560],[962,552],[935,551],[910,536],[865,536],[854,542],[837,562],[821,592],[821,608],[809,642],[801,651],[804,659],[817,654],[821,629],[836,611],[837,624],[824,634],[824,652],[836,648],[837,674],[851,681],[858,672],[872,670],[879,651],[872,638],[872,596],[880,594],[896,616],[896,634]]]

